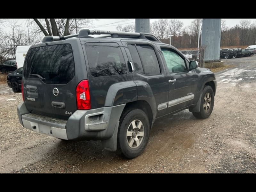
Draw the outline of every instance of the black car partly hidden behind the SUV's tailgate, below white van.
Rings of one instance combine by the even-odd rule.
[[[16,69],[7,76],[7,84],[12,88],[13,92],[21,91],[21,79],[22,79],[23,67]]]

